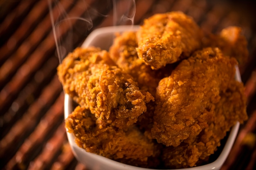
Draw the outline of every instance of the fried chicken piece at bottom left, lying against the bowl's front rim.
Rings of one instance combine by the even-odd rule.
[[[136,126],[122,130],[106,126],[90,110],[77,106],[65,120],[68,132],[76,144],[87,152],[133,166],[156,167],[159,163],[158,146],[145,137]]]

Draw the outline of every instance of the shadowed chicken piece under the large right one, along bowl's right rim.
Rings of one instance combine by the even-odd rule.
[[[214,112],[208,119],[208,126],[193,140],[184,140],[180,146],[164,148],[162,159],[168,168],[188,168],[206,163],[227,131],[237,121],[243,123],[246,114],[246,97],[243,84],[231,80],[226,91],[220,93],[220,101],[214,104]]]

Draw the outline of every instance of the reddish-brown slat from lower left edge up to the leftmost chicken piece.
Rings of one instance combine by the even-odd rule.
[[[42,111],[47,109],[52,101],[55,99],[55,96],[62,91],[62,86],[57,78],[54,77],[52,82],[44,88],[40,97],[31,104],[27,112],[11,127],[9,133],[4,136],[0,141],[0,159],[3,160],[1,163],[4,163],[6,159],[13,156],[16,150],[19,147],[19,144],[16,141],[23,141],[27,136],[27,133],[34,130],[38,119],[42,114]],[[5,153],[9,153],[8,156]]]

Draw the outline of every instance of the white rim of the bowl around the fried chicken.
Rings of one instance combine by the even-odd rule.
[[[88,35],[88,37],[83,42],[81,47],[85,48],[85,47],[90,46],[90,44],[94,40],[94,38],[96,38],[99,35],[105,35],[105,34],[108,35],[108,34],[114,34],[117,32],[121,33],[124,31],[137,31],[139,29],[139,27],[140,27],[139,25],[134,25],[134,26],[122,25],[122,26],[108,26],[108,27],[102,27],[99,29],[95,29]],[[236,75],[235,76],[236,76],[236,79],[238,80],[238,82],[241,82],[241,76],[240,76],[238,66],[236,66]],[[65,94],[65,97],[64,97],[64,119],[67,119],[68,115],[70,113],[72,113],[72,111],[73,111],[72,98],[68,94]],[[234,144],[234,141],[238,134],[239,126],[240,126],[240,123],[237,121],[236,124],[231,128],[229,136],[227,137],[226,144],[222,148],[222,151],[220,152],[219,157],[215,161],[205,164],[205,165],[202,165],[202,166],[195,166],[195,167],[191,167],[191,168],[180,168],[180,169],[175,169],[175,170],[206,170],[206,169],[220,168],[223,165],[223,163],[225,162],[225,160],[227,159],[227,156],[229,155],[229,152]],[[66,131],[67,131],[67,129],[66,129]],[[76,159],[79,159],[79,158],[76,155],[76,152],[74,151],[73,147],[76,147],[76,149],[79,148],[79,150],[81,150],[81,152],[84,152],[84,154],[89,154],[90,156],[94,157],[98,161],[104,161],[104,162],[111,163],[117,168],[127,169],[127,170],[132,169],[132,168],[133,169],[136,168],[136,170],[157,170],[157,169],[148,169],[148,168],[141,168],[141,167],[127,165],[124,163],[114,161],[112,159],[108,159],[101,155],[86,152],[83,148],[80,148],[79,146],[76,145],[76,143],[74,142],[73,134],[69,133],[68,131],[67,131],[67,138],[68,138],[68,141],[71,145],[72,151],[73,151]],[[166,170],[173,170],[173,169],[166,169]]]

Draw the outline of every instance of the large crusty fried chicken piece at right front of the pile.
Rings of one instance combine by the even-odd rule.
[[[206,48],[183,60],[157,87],[152,136],[166,146],[179,146],[209,126],[220,94],[234,81],[234,58]]]

